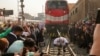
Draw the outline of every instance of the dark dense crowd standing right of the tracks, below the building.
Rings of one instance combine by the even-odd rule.
[[[89,52],[93,43],[93,32],[95,19],[78,21],[69,26],[70,41],[77,44],[79,48],[84,48]]]

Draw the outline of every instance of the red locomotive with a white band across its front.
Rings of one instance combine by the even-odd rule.
[[[47,0],[45,4],[45,27],[49,35],[63,35],[68,31],[69,7],[66,0]]]

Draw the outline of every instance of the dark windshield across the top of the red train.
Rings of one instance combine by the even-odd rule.
[[[49,9],[65,9],[67,7],[66,1],[48,1],[47,2]]]

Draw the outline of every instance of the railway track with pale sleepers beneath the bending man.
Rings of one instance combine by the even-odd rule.
[[[58,35],[60,35],[60,32],[58,32]],[[70,44],[68,44],[68,46],[65,48],[66,52],[63,52],[63,49],[61,48],[60,50],[60,54],[58,55],[58,47],[55,47],[53,45],[53,41],[54,39],[49,38],[48,39],[48,44],[46,45],[46,47],[43,48],[43,51],[47,54],[49,54],[50,56],[77,56],[73,49],[70,47]]]

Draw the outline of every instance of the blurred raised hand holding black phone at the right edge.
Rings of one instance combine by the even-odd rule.
[[[100,56],[100,8],[96,18],[96,28],[93,35],[93,45],[90,50],[90,56]]]

